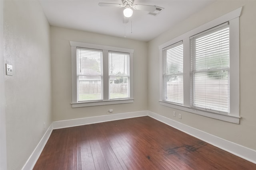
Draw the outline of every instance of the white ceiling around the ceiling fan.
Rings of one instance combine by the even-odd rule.
[[[122,4],[122,0],[40,0],[50,25],[117,37],[126,35],[140,41],[154,39],[213,0],[134,0],[134,4],[155,5],[164,10],[157,16],[133,10],[132,19],[126,24],[124,8],[100,7],[99,2]]]

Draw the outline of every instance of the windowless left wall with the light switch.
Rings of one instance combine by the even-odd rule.
[[[4,84],[7,168],[19,170],[52,123],[50,26],[38,1],[4,1],[4,62],[13,65]]]

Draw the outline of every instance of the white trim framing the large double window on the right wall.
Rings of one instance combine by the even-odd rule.
[[[200,27],[192,29],[187,33],[184,33],[162,45],[159,46],[160,51],[160,105],[172,107],[174,109],[179,109],[182,111],[188,111],[190,113],[195,113],[198,115],[203,115],[206,117],[211,117],[214,119],[219,119],[223,121],[228,121],[231,123],[240,123],[240,91],[239,91],[239,17],[242,13],[242,7],[225,14],[215,20],[212,20]],[[196,35],[202,31],[206,31],[212,27],[220,25],[222,23],[228,22],[230,25],[230,113],[229,114],[222,114],[222,113],[213,113],[208,111],[202,111],[198,109],[194,109],[190,107],[190,37]],[[184,93],[184,104],[172,104],[169,102],[165,102],[162,99],[162,49],[177,43],[179,41],[183,41],[183,72],[184,72],[184,79],[183,79],[183,93]],[[185,96],[186,94],[186,96]]]

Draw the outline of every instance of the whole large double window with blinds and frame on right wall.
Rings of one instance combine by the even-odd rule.
[[[159,46],[161,105],[239,124],[241,11]]]

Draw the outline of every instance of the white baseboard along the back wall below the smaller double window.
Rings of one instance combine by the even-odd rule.
[[[135,112],[128,112],[128,113],[112,114],[112,115],[85,117],[85,118],[80,118],[80,119],[54,121],[54,122],[52,122],[52,125],[53,125],[53,129],[61,129],[61,128],[65,128],[65,127],[88,125],[88,124],[93,124],[93,123],[101,123],[101,122],[106,122],[106,121],[128,119],[128,118],[132,118],[132,117],[141,117],[141,116],[147,116],[147,115],[148,115],[147,110],[135,111]]]

